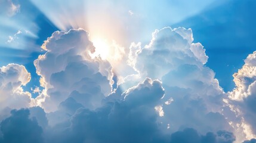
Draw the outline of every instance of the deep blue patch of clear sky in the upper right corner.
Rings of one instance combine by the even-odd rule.
[[[213,3],[212,5],[217,5]],[[225,91],[235,87],[232,74],[255,51],[256,1],[227,1],[187,18],[173,27],[192,28],[195,42],[201,42],[208,55],[207,66],[216,73]]]

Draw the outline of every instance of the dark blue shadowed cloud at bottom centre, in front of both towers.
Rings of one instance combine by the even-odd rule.
[[[158,128],[154,108],[164,93],[159,80],[147,78],[119,94],[119,101],[107,100],[96,110],[68,98],[58,112],[47,113],[50,122],[53,116],[67,120],[46,128],[45,142],[166,142],[168,138]],[[71,115],[60,113],[66,111]]]

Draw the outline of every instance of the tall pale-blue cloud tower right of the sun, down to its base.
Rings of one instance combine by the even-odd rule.
[[[201,43],[193,43],[192,30],[181,27],[155,30],[144,48],[140,43],[130,46],[128,64],[138,75],[162,80],[165,97],[155,108],[165,132],[184,128],[201,133],[233,131],[223,112],[227,95],[214,71],[205,66],[207,60]]]

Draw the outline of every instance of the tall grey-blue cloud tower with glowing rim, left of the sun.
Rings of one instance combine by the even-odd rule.
[[[45,89],[36,103],[47,111],[57,110],[68,97],[87,108],[100,107],[110,94],[112,67],[107,61],[91,59],[95,47],[83,29],[54,32],[42,45],[47,52],[34,61]]]

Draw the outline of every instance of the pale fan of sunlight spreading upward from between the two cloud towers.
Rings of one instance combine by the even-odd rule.
[[[30,1],[59,29],[67,31],[81,27],[87,30],[96,48],[94,57],[100,55],[104,60],[110,61],[116,74],[119,74],[115,66],[122,66],[119,65],[119,61],[122,60],[124,53],[129,52],[131,42],[147,44],[155,29],[199,13],[205,5],[214,0],[162,0],[150,3],[146,0]],[[184,9],[190,13],[185,13]]]

